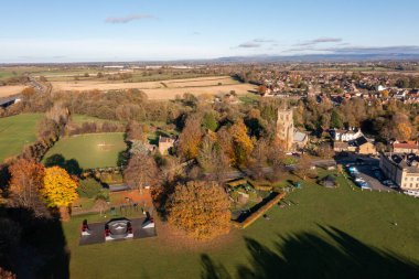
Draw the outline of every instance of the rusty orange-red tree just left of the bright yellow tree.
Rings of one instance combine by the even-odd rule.
[[[33,208],[36,215],[41,215],[43,206],[39,193],[43,187],[44,167],[35,160],[20,159],[10,165],[9,171],[12,204]]]

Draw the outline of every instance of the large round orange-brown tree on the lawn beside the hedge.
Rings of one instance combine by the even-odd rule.
[[[228,196],[215,182],[178,184],[166,211],[170,224],[196,239],[211,239],[230,229]]]

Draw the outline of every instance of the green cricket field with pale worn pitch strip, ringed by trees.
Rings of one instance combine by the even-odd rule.
[[[61,154],[66,161],[76,160],[82,169],[117,167],[120,153],[127,149],[122,132],[89,133],[62,138],[45,154]]]

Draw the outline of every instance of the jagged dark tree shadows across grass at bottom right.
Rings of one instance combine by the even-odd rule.
[[[419,278],[418,262],[369,247],[337,228],[321,228],[333,240],[302,233],[281,237],[272,250],[245,238],[249,265],[237,267],[237,278]],[[202,278],[230,278],[207,255],[202,255]]]

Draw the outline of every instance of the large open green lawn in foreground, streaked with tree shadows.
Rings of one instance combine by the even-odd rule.
[[[293,205],[268,212],[269,221],[202,247],[159,236],[79,247],[86,216],[75,217],[64,224],[71,278],[415,278],[419,201],[340,182],[304,184],[287,197]]]

